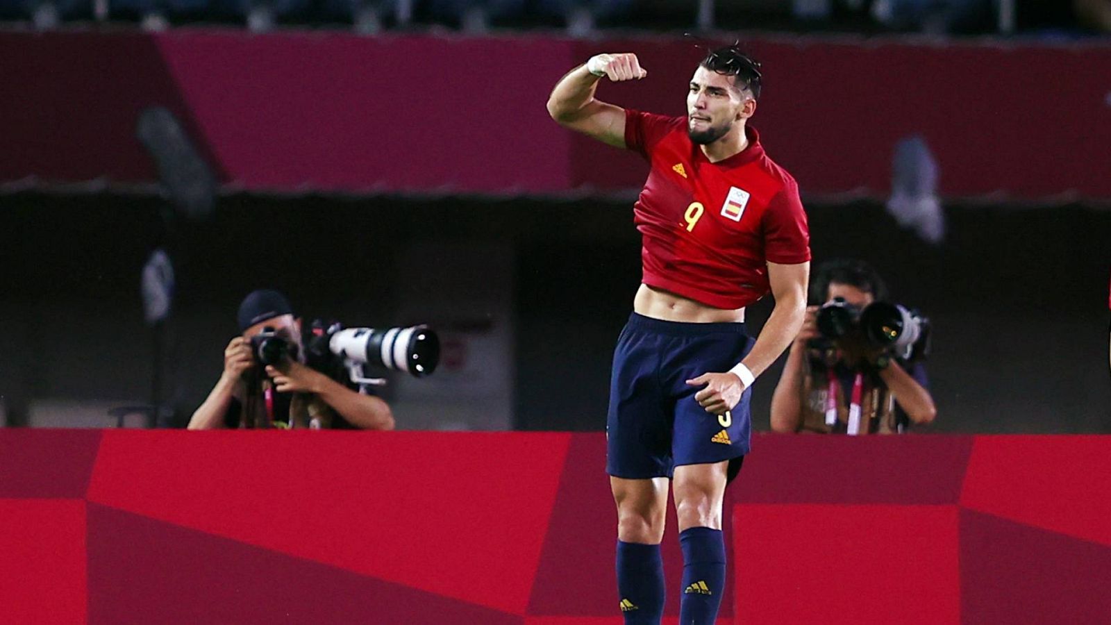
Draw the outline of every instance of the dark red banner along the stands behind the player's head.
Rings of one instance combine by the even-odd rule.
[[[894,142],[925,138],[945,196],[1111,198],[1111,48],[755,39],[753,123],[811,194],[884,196]],[[629,153],[544,110],[599,50],[649,69],[603,85],[622,106],[681,115],[699,60],[672,39],[362,38],[236,31],[0,33],[0,181],[152,181],[136,116],[177,113],[219,178],[282,191],[550,194],[630,189]]]

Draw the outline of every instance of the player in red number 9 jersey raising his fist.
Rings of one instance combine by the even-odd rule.
[[[643,279],[614,351],[607,418],[627,624],[663,614],[669,478],[684,565],[680,623],[714,622],[725,587],[722,498],[749,452],[750,389],[805,311],[810,236],[798,186],[748,125],[759,67],[735,46],[711,51],[690,80],[684,117],[594,98],[602,78],[648,75],[632,53],[592,57],[548,100],[562,126],[651,163],[633,207]],[[744,307],[769,290],[775,307],[753,341]]]

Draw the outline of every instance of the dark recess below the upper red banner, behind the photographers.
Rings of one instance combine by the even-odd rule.
[[[173,380],[161,393],[183,425],[219,376],[236,306],[260,277],[270,276],[262,284],[284,289],[306,317],[416,323],[396,314],[403,251],[466,241],[514,250],[516,428],[601,429],[612,346],[640,280],[631,200],[230,195],[211,221],[168,234],[156,197],[4,196],[0,395],[8,421],[19,425],[47,397],[150,396],[153,335],[142,320],[139,272],[159,245],[178,270]],[[1111,431],[1111,212],[949,204],[948,239],[933,247],[879,204],[805,204],[815,262],[868,260],[893,299],[932,319],[939,416],[931,430]],[[429,284],[440,260],[432,251],[419,268]],[[434,300],[436,289],[427,297]],[[750,308],[752,334],[770,308],[767,299]],[[755,387],[758,429],[768,427],[781,363]]]

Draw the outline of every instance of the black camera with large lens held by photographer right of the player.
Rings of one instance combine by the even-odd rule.
[[[818,309],[817,325],[821,337],[810,343],[814,349],[855,344],[901,360],[923,359],[930,350],[930,320],[898,304],[873,301],[860,308],[838,297]]]

